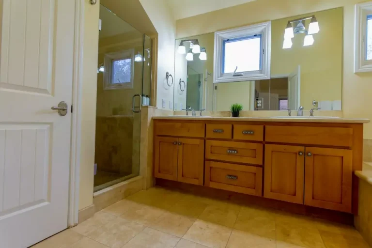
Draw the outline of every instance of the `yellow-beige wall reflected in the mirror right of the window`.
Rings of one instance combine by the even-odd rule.
[[[305,34],[296,34],[291,49],[283,49],[284,28],[289,20],[315,15],[321,31],[312,46],[304,47]],[[311,109],[312,101],[341,100],[342,8],[275,20],[271,26],[271,75],[289,75],[301,66],[300,104]],[[306,20],[306,27],[310,20]]]

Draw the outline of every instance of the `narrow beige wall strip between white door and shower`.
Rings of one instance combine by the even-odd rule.
[[[81,106],[81,152],[79,210],[93,204],[95,111],[97,95],[99,0],[84,0],[83,85]]]

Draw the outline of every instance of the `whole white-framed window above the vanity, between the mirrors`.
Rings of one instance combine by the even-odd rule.
[[[215,33],[214,82],[270,78],[271,22]]]

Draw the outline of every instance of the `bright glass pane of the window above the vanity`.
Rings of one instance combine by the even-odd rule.
[[[261,70],[261,35],[229,39],[223,44],[222,72]]]

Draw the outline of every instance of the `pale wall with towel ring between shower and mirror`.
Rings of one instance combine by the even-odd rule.
[[[173,103],[173,88],[176,82],[169,87],[165,75],[167,72],[174,74],[176,23],[166,0],[140,0],[140,2],[158,32],[156,106],[162,109],[164,99],[165,109],[173,109],[173,105],[170,108],[170,102]]]

